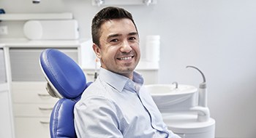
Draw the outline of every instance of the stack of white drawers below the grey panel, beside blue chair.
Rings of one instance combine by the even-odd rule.
[[[12,81],[16,138],[50,137],[50,113],[58,99],[45,90],[46,81]]]

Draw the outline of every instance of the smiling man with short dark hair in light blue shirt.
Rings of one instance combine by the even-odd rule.
[[[93,49],[101,62],[97,80],[75,105],[78,137],[178,138],[167,129],[143,78],[135,67],[140,60],[139,36],[132,15],[106,7],[92,20]]]

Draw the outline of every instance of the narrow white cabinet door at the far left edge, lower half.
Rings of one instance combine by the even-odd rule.
[[[0,84],[0,137],[12,137],[12,118],[7,84]]]

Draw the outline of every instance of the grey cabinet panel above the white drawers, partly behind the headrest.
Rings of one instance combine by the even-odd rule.
[[[39,65],[39,55],[41,48],[11,48],[10,60],[12,81],[45,81]],[[78,49],[59,49],[78,62]]]

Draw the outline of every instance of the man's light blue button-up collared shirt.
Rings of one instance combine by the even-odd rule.
[[[130,80],[101,68],[74,113],[75,131],[81,138],[178,138],[167,129],[143,88],[143,78],[135,72]]]

